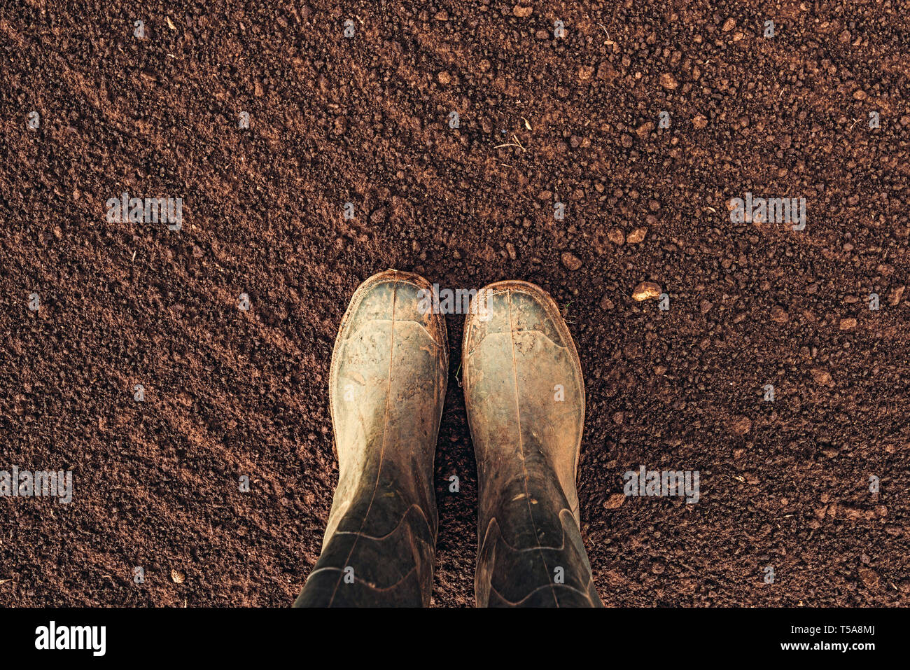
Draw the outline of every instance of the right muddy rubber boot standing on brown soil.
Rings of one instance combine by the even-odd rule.
[[[524,281],[490,284],[474,303],[462,365],[479,475],[477,605],[602,606],[579,530],[584,381],[569,329]]]

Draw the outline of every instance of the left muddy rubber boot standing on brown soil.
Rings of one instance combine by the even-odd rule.
[[[341,320],[329,374],[339,484],[295,606],[430,604],[449,357],[444,317],[420,313],[421,289],[432,287],[418,275],[381,272]]]

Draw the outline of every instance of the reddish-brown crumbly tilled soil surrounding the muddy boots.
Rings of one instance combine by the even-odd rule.
[[[386,268],[564,307],[606,604],[910,604],[905,2],[255,5],[0,6],[0,470],[75,479],[0,499],[0,604],[290,604],[337,480],[332,343]],[[108,223],[123,191],[183,228]],[[732,223],[747,191],[806,229]],[[434,601],[469,605],[448,323]],[[701,501],[615,496],[640,464]]]

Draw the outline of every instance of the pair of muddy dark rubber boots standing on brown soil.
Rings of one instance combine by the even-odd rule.
[[[430,604],[433,457],[449,377],[432,291],[419,275],[387,270],[360,285],[341,321],[329,375],[339,483],[295,606]],[[569,329],[550,296],[524,281],[490,284],[468,312],[477,605],[600,606],[579,529],[584,382]]]

